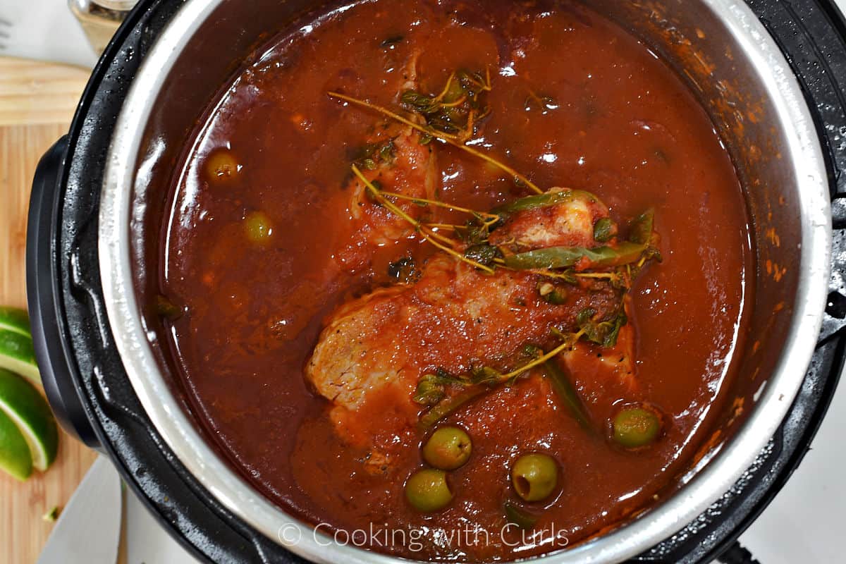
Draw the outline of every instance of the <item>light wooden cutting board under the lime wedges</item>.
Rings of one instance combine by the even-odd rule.
[[[89,71],[0,57],[0,304],[25,307],[30,185],[44,151],[67,133]],[[0,473],[0,564],[35,562],[96,452],[63,434],[56,463],[21,483]]]

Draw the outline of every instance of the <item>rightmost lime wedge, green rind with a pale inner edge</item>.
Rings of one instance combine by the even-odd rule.
[[[17,425],[30,449],[32,466],[47,470],[56,459],[58,428],[47,400],[18,375],[0,370],[0,412]]]

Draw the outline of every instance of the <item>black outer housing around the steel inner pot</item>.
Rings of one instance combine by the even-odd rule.
[[[105,315],[96,220],[105,158],[135,72],[181,4],[148,0],[135,8],[97,65],[69,135],[39,164],[27,241],[36,353],[63,426],[112,457],[127,484],[195,556],[217,562],[301,562],[228,512],[179,463],[129,385]],[[846,271],[846,175],[841,174],[846,147],[838,138],[840,131],[846,133],[846,25],[833,4],[749,4],[787,55],[815,115],[835,200],[833,271]],[[727,496],[633,561],[711,561],[754,521],[799,465],[843,370],[846,288],[838,284],[832,277],[832,305],[820,344],[799,397],[770,444]]]

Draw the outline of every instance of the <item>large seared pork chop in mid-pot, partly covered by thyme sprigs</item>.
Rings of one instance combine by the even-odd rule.
[[[543,197],[544,205],[509,211],[490,241],[517,250],[601,246],[594,238],[596,222],[608,217],[601,201],[564,189]],[[555,285],[558,299],[544,297],[546,284]],[[376,440],[368,422],[377,415],[365,406],[384,409],[382,400],[390,397],[393,413],[404,413],[405,424],[413,426],[421,409],[415,390],[423,375],[466,374],[480,366],[508,373],[525,364],[520,354],[527,344],[556,348],[562,334],[580,330],[586,310],[605,320],[620,307],[619,289],[608,280],[563,284],[545,273],[504,268],[487,274],[452,256],[434,255],[414,284],[382,288],[338,309],[321,333],[306,377],[332,402],[338,432],[364,445]],[[630,390],[633,359],[634,330],[624,325],[613,346],[577,342],[557,361],[578,373],[580,389],[592,396],[595,386]],[[381,452],[377,459],[383,457]]]

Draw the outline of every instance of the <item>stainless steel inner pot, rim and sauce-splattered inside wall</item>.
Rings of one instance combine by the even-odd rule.
[[[610,533],[541,557],[617,562],[689,523],[722,496],[777,429],[819,333],[831,253],[826,171],[810,112],[788,63],[742,2],[585,0],[671,64],[699,96],[728,147],[754,222],[759,270],[750,305],[756,342],[708,450],[678,488]],[[314,534],[224,462],[196,423],[160,348],[163,328],[140,304],[156,290],[158,238],[173,163],[204,108],[251,53],[288,29],[309,0],[188,0],[157,38],[118,120],[102,187],[102,287],[118,351],[140,402],[184,467],[222,505],[316,561],[398,562]],[[336,8],[340,7],[333,3]],[[295,542],[292,542],[295,541]]]

